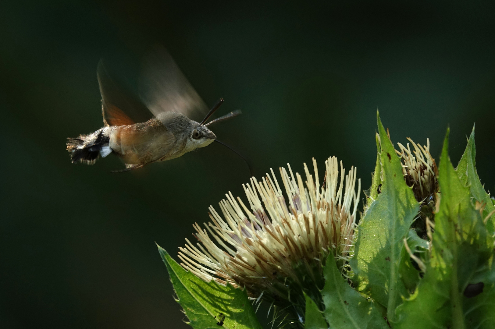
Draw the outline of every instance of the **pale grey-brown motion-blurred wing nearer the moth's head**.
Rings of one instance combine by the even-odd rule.
[[[201,121],[208,107],[163,47],[154,47],[143,59],[139,93],[157,117],[166,111]]]

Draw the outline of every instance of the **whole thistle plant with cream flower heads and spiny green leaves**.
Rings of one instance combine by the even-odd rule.
[[[474,128],[456,169],[447,130],[440,163],[428,146],[394,148],[379,116],[377,161],[359,224],[360,181],[335,157],[320,186],[281,168],[227,194],[196,224],[199,243],[180,248],[182,267],[159,248],[177,301],[195,329],[495,328],[494,200],[475,166]],[[189,271],[187,271],[187,270]],[[253,306],[251,306],[251,303]]]

